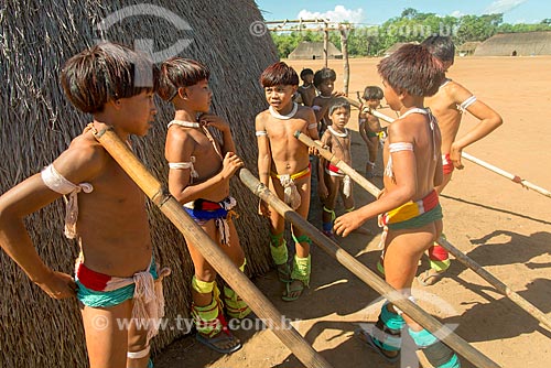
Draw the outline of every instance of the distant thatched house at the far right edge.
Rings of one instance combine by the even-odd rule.
[[[551,31],[499,33],[476,47],[475,56],[551,55]]]

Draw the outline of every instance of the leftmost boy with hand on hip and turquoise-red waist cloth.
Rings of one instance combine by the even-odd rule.
[[[122,45],[102,43],[71,57],[63,89],[93,122],[40,174],[0,197],[0,246],[50,296],[77,297],[93,368],[153,366],[149,342],[164,314],[161,280],[170,270],[155,264],[144,194],[94,133],[145,136],[156,115],[155,82],[151,62]],[[65,235],[80,246],[75,279],[44,264],[23,223],[62,195]]]

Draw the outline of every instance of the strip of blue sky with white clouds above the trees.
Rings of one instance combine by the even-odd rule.
[[[381,24],[406,8],[439,15],[504,13],[506,23],[539,23],[551,18],[549,0],[256,0],[264,20],[329,18],[332,21]]]

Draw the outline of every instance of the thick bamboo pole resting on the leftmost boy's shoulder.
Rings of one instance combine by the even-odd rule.
[[[95,131],[94,136],[106,151],[127,172],[145,195],[199,250],[222,278],[234,289],[255,313],[271,328],[276,336],[306,367],[332,367],[281,315],[276,306],[255,286],[255,284],[229,260],[222,249],[195,224],[182,205],[165,193],[161,183],[136,158],[127,144],[112,129]]]

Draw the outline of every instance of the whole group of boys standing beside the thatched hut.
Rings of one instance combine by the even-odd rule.
[[[431,48],[439,42],[440,39],[426,46],[402,47],[378,66],[385,97],[401,113],[389,126],[385,143],[383,195],[355,209],[349,178],[323,159],[317,167],[318,192],[324,202],[323,230],[328,236],[333,231],[347,236],[367,219],[386,214],[383,266],[387,282],[398,290],[411,286],[420,257],[442,231],[435,194],[439,186],[446,184],[441,151],[449,153],[449,160],[461,169],[461,150],[500,123],[495,111],[444,78],[453,57],[451,62],[439,58]],[[136,80],[139,74],[153,75],[152,83],[142,87]],[[255,130],[260,182],[306,218],[311,197],[310,155],[315,151],[295,140],[294,133],[301,131],[314,140],[321,136],[323,145],[352,163],[350,134],[345,128],[350,105],[333,93],[336,77],[333,71],[324,68],[312,78],[309,73],[303,74],[306,83],[301,88],[299,76],[284,63],[276,63],[261,74],[269,108],[258,113]],[[93,115],[93,122],[52,164],[0,197],[0,246],[50,296],[76,295],[91,367],[152,367],[149,343],[156,331],[139,328],[137,320],[162,317],[161,280],[170,271],[159,268],[154,260],[143,194],[95,134],[111,128],[122,140],[130,134],[145,136],[156,115],[154,93],[172,102],[175,110],[168,125],[165,143],[170,193],[236,267],[245,269],[245,253],[231,220],[236,199],[229,195],[229,181],[245,163],[236,153],[228,122],[209,112],[213,95],[208,78],[208,68],[198,62],[173,57],[158,68],[143,55],[110,43],[73,56],[62,71],[62,86],[76,108]],[[320,91],[317,96],[312,94],[311,83]],[[302,101],[305,105],[311,101],[312,107],[293,100],[298,90]],[[441,129],[431,111],[424,109],[424,97],[432,95],[431,106],[435,115],[443,117]],[[369,91],[366,88],[364,97],[367,104],[372,104],[370,108],[376,108],[382,99],[380,88]],[[445,115],[455,104],[483,120],[482,128],[457,141],[461,115]],[[374,131],[380,128],[370,116],[360,113],[359,119],[365,119],[365,125]],[[219,134],[213,134],[214,129]],[[214,136],[222,137],[222,141]],[[367,137],[370,142],[371,138]],[[368,165],[372,167],[371,163]],[[346,209],[338,218],[334,213],[337,192],[343,194]],[[76,238],[80,246],[75,278],[53,271],[42,261],[23,220],[63,195],[68,197],[65,234]],[[431,204],[421,213],[420,201]],[[119,206],[120,203],[125,206]],[[132,214],[131,220],[128,213]],[[415,215],[411,217],[412,213]],[[311,240],[291,226],[295,253],[290,266],[284,218],[262,201],[259,214],[270,219],[270,251],[278,277],[285,285],[282,299],[294,301],[309,286]],[[229,285],[218,289],[216,270],[192,239],[186,239],[186,245],[195,268],[191,313],[197,339],[219,353],[233,353],[241,345],[228,329],[225,314],[245,318],[251,311]],[[98,316],[107,322],[106,328],[95,325]],[[118,320],[132,323],[128,329],[118,328]],[[400,346],[395,343],[399,342],[404,323],[418,346],[432,351],[428,355],[432,354],[436,367],[460,366],[453,351],[388,303],[377,323],[379,333],[359,335],[386,359],[396,361]]]

